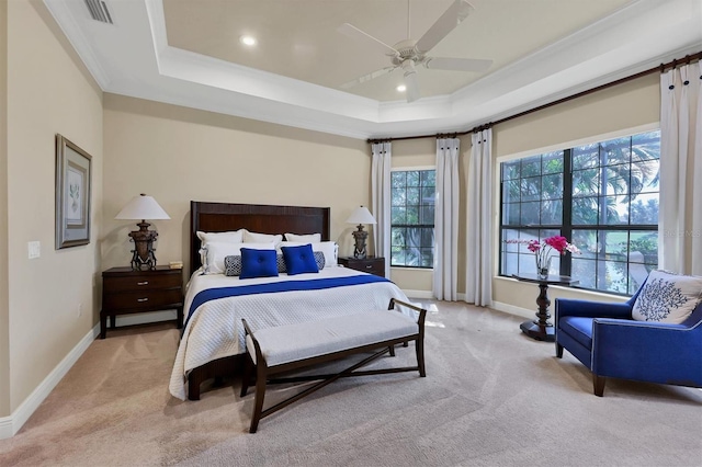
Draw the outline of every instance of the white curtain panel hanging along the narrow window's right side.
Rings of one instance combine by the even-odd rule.
[[[455,301],[458,284],[458,138],[437,139],[433,293]]]

